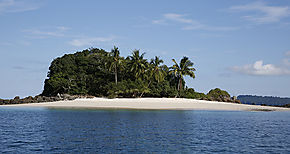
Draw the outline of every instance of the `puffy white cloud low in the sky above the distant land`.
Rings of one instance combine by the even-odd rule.
[[[256,61],[254,64],[244,66],[234,66],[231,68],[235,72],[248,75],[271,76],[271,75],[290,75],[287,68],[277,67],[273,64],[263,64],[263,61]]]

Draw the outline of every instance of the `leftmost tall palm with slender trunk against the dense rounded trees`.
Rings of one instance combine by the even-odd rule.
[[[112,69],[114,70],[115,83],[118,84],[118,67],[120,67],[122,63],[122,59],[120,58],[120,51],[116,46],[114,46],[110,54],[113,57],[113,62],[111,63],[110,71]]]

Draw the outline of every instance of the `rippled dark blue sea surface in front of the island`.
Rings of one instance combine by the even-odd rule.
[[[290,153],[290,112],[0,107],[0,153]]]

